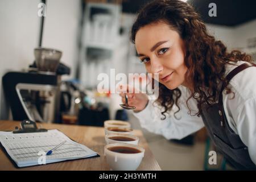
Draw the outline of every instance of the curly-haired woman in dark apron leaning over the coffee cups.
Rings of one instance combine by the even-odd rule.
[[[206,127],[237,169],[256,169],[256,68],[251,57],[227,52],[182,1],[157,0],[139,12],[131,30],[139,59],[159,74],[159,97],[127,94],[141,126],[167,139]],[[120,94],[125,103],[124,94]]]

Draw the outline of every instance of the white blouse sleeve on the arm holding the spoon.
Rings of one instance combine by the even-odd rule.
[[[139,119],[144,129],[163,135],[167,139],[182,139],[204,127],[201,117],[188,114],[189,110],[185,103],[185,95],[181,90],[180,111],[175,114],[176,117],[174,116],[174,111],[177,110],[177,107],[174,106],[170,113],[166,115],[166,119],[162,120],[161,111],[163,108],[156,105],[152,100],[148,102],[144,110],[134,113],[134,115]],[[196,101],[192,98],[189,101],[189,108],[192,110],[197,109]]]

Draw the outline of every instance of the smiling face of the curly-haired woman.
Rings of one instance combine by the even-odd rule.
[[[166,23],[148,24],[135,36],[139,59],[148,73],[159,73],[159,82],[168,89],[185,85],[185,46],[179,34]]]

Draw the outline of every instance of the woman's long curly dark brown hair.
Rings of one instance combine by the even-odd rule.
[[[193,84],[188,100],[192,97],[197,100],[199,109],[197,116],[200,116],[202,104],[212,105],[218,100],[220,82],[224,84],[226,93],[232,93],[225,78],[225,64],[234,64],[238,60],[253,61],[251,56],[241,51],[235,50],[229,53],[221,41],[217,41],[214,36],[208,34],[203,20],[193,7],[179,0],[156,0],[147,3],[139,11],[131,28],[131,41],[135,43],[139,28],[156,22],[169,24],[172,30],[179,33],[185,43],[184,62],[188,68],[185,79]],[[159,83],[159,97],[156,102],[164,107],[162,119],[166,118],[164,113],[171,110],[174,104],[178,107],[175,114],[180,110],[177,104],[180,97],[179,88],[170,90]],[[191,114],[191,109],[189,109],[189,114]]]

